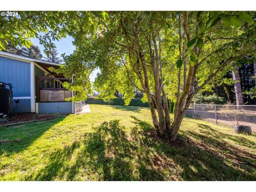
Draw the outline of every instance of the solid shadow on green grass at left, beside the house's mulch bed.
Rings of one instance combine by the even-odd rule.
[[[8,140],[8,142],[0,145],[0,155],[5,153],[8,156],[25,150],[31,143],[41,137],[44,132],[64,118],[58,117],[49,121],[0,127],[1,140]]]

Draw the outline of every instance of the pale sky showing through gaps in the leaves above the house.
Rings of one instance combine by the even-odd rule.
[[[66,38],[59,39],[59,41],[53,41],[53,43],[56,46],[56,49],[58,51],[58,57],[61,57],[62,53],[65,53],[66,55],[70,55],[73,53],[73,51],[76,49],[76,47],[73,45],[73,37],[67,36]],[[31,38],[31,42],[38,46],[41,50],[43,57],[46,57],[44,54],[44,46],[39,43],[39,39],[37,38]],[[90,75],[90,79],[92,82],[94,82],[95,77],[97,76],[97,73],[99,73],[99,69],[95,69],[92,71],[92,74]]]

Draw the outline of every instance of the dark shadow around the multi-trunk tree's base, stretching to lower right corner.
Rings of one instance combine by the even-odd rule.
[[[163,167],[163,172],[173,172],[174,175],[177,174],[174,170],[181,167],[182,171],[174,179],[180,175],[183,180],[256,180],[256,156],[223,141],[223,138],[234,137],[233,135],[201,124],[201,127],[207,129],[208,137],[184,131],[178,135],[175,142],[170,142],[159,138],[151,125],[137,118],[133,119],[137,121],[140,130],[146,130],[134,131],[134,137],[138,139],[138,135],[143,135],[139,139],[140,142],[143,141],[141,145],[152,147],[156,157],[160,156],[159,159],[162,159],[161,164],[157,166],[153,158],[156,167]],[[148,128],[145,128],[145,125]],[[191,139],[188,133],[202,142]],[[245,138],[241,140],[251,148],[255,146],[255,143]]]

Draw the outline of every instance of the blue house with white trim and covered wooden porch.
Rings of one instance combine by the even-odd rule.
[[[73,93],[62,83],[70,80],[52,73],[49,67],[59,68],[59,64],[0,52],[0,82],[13,86],[13,113],[68,114],[83,106],[65,101]]]

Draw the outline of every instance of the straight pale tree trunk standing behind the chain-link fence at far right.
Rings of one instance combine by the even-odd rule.
[[[235,88],[235,93],[236,93],[236,105],[243,105],[243,94],[242,94],[242,87],[241,87],[241,83],[240,83],[240,76],[239,76],[239,71],[238,71],[238,67],[234,66],[234,63],[232,63],[233,65],[233,80],[235,81],[234,83],[234,88]]]

